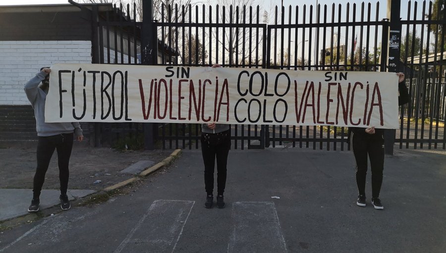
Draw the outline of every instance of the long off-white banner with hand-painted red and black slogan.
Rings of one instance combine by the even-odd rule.
[[[389,72],[55,64],[46,122],[398,128]]]

